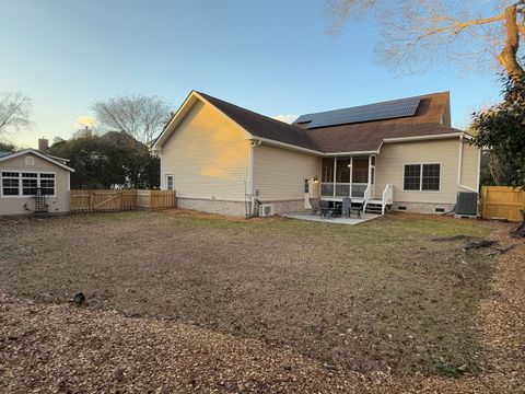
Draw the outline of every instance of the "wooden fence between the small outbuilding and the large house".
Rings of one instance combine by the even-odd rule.
[[[71,213],[119,212],[177,206],[175,190],[71,190],[69,196]]]

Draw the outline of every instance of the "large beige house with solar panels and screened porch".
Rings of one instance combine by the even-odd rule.
[[[153,144],[178,206],[243,216],[308,208],[444,212],[478,192],[480,151],[451,127],[450,93],[300,116],[292,125],[192,91]]]

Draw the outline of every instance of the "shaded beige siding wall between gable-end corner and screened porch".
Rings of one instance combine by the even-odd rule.
[[[304,198],[304,179],[319,176],[320,159],[267,144],[254,148],[254,187],[261,201]]]

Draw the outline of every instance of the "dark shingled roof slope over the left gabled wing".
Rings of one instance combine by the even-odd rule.
[[[206,93],[197,93],[254,137],[266,138],[315,151],[319,150],[308,135],[296,126],[242,108],[220,99],[212,97]]]

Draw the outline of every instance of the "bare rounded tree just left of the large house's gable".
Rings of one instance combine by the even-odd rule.
[[[170,106],[158,96],[131,95],[100,101],[92,105],[100,125],[124,131],[150,146],[170,116]]]

